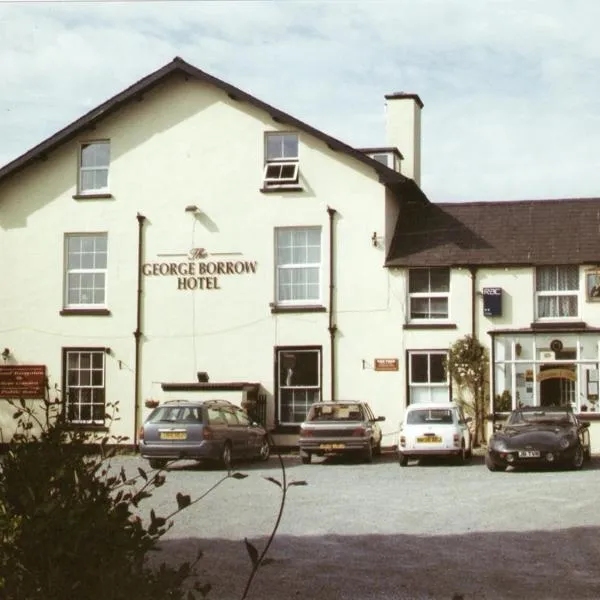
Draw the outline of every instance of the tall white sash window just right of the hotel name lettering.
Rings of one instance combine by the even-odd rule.
[[[275,230],[277,304],[321,303],[321,228]]]

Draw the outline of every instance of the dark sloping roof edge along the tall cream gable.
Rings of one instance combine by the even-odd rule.
[[[90,126],[93,126],[94,124],[105,118],[107,115],[116,112],[123,105],[127,104],[128,102],[138,100],[146,92],[156,87],[157,85],[162,83],[167,77],[175,73],[179,73],[183,76],[214,85],[215,87],[220,88],[224,92],[226,92],[229,95],[229,97],[233,100],[247,102],[252,106],[266,111],[277,123],[290,125],[299,131],[309,133],[310,135],[322,140],[332,150],[336,150],[338,152],[347,154],[348,156],[355,158],[361,163],[364,163],[374,168],[379,175],[379,181],[381,183],[388,185],[390,188],[396,191],[398,191],[399,189],[404,189],[406,192],[412,194],[415,197],[421,197],[422,201],[426,201],[425,195],[412,179],[401,175],[393,169],[389,169],[380,162],[370,158],[363,152],[352,148],[351,146],[348,146],[344,142],[341,142],[336,138],[333,138],[323,133],[322,131],[315,129],[310,125],[307,125],[299,119],[296,119],[295,117],[292,117],[291,115],[267,104],[266,102],[255,98],[247,92],[244,92],[241,89],[236,88],[235,86],[230,85],[229,83],[226,83],[221,79],[218,79],[217,77],[209,75],[205,71],[202,71],[192,66],[191,64],[185,62],[178,56],[176,56],[170,63],[166,64],[164,67],[158,69],[157,71],[154,71],[153,73],[150,73],[150,75],[147,75],[146,77],[143,77],[138,82],[129,86],[127,89],[123,90],[116,96],[113,96],[112,98],[100,104],[96,108],[90,110],[88,113],[86,113],[76,121],[73,121],[70,125],[67,125],[65,128],[61,129],[60,131],[47,138],[37,146],[33,147],[25,154],[4,165],[2,168],[0,168],[0,183],[2,183],[2,181],[8,178],[9,176],[14,175],[21,169],[24,169],[26,166],[33,163],[34,161],[44,159],[49,152],[51,152],[61,144],[64,144],[65,142],[75,138],[81,133],[81,131],[83,131],[86,128],[89,128]]]

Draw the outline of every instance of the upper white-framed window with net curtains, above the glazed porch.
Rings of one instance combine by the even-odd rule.
[[[579,316],[579,267],[537,267],[535,274],[538,319]]]

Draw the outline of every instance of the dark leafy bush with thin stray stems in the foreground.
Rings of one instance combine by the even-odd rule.
[[[89,434],[68,431],[58,403],[44,401],[45,419],[21,401],[15,405],[19,433],[10,443],[0,469],[0,597],[6,600],[170,600],[206,597],[211,586],[200,583],[195,561],[177,567],[147,564],[177,513],[204,499],[223,481],[244,479],[227,474],[199,498],[176,495],[176,508],[166,517],[150,510],[148,523],[140,504],[163,485],[163,471],[138,470],[130,478],[123,468],[111,468],[114,450],[104,437],[90,452]],[[40,434],[33,434],[37,425]],[[262,552],[245,540],[252,568],[241,598],[273,541],[291,485],[267,479],[281,488],[282,500],[275,526]]]

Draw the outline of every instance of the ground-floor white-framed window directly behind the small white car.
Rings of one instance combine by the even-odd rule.
[[[442,351],[409,353],[409,404],[450,400],[450,387],[444,365],[447,356],[447,352]]]

